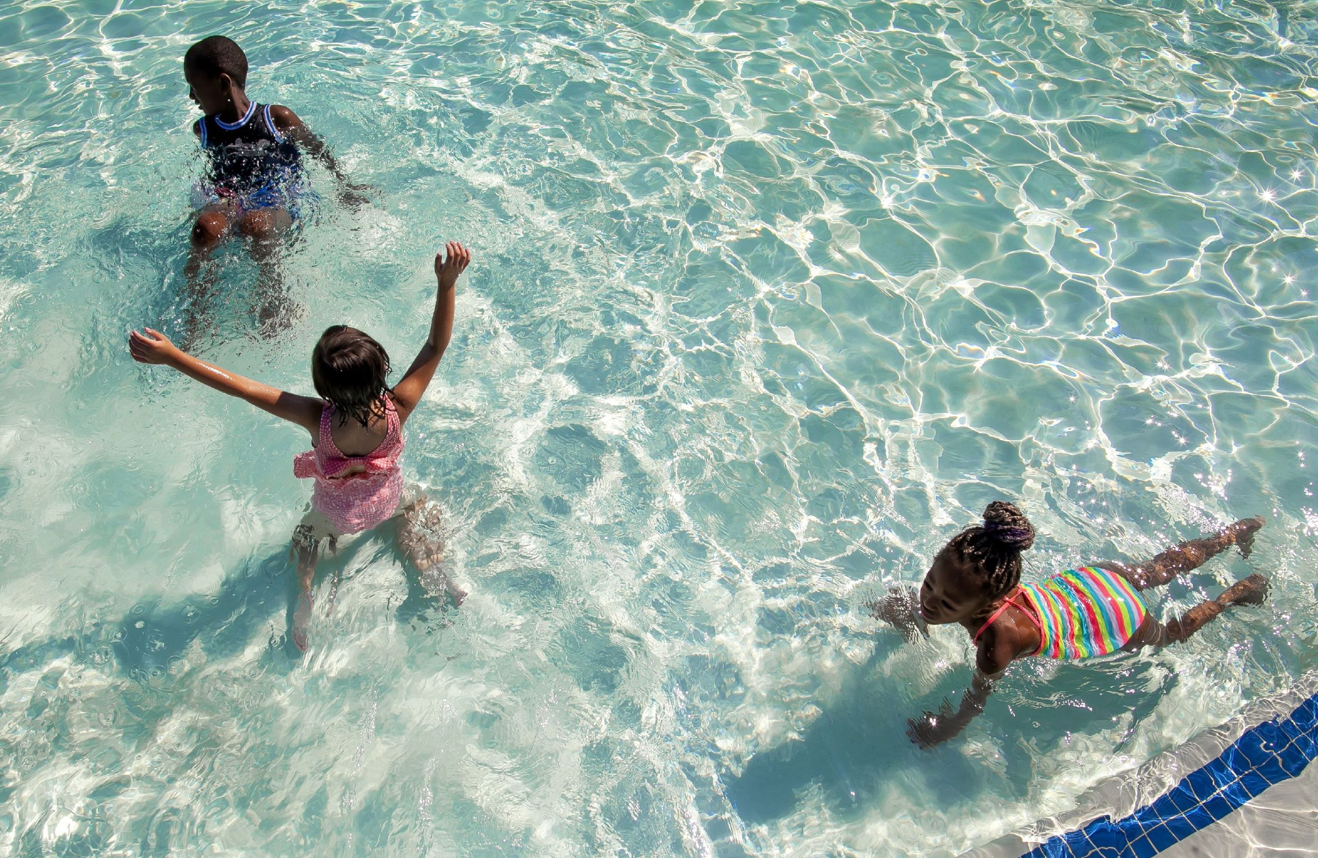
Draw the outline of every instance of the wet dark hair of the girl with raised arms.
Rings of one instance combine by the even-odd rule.
[[[382,397],[393,393],[389,353],[356,328],[331,325],[311,353],[311,382],[333,403],[340,426],[351,417],[366,428],[373,416],[384,416]]]

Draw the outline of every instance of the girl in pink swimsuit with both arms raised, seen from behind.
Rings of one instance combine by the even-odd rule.
[[[134,361],[162,363],[215,390],[252,403],[311,433],[312,450],[298,455],[293,472],[315,479],[311,508],[293,534],[298,554],[298,603],[293,640],[307,647],[311,622],[311,578],[322,541],[335,549],[340,536],[361,533],[402,517],[399,546],[418,571],[439,562],[442,546],[427,530],[439,521],[439,509],[414,487],[403,486],[398,461],[403,451],[403,424],[420,403],[453,333],[457,276],[471,262],[471,251],[456,241],[447,255],[435,254],[438,295],[430,336],[416,359],[393,388],[387,384],[389,355],[362,332],[333,325],[311,353],[311,380],[319,396],[298,396],[245,379],[183,353],[165,334],[132,332],[128,347]],[[453,601],[467,595],[434,570]]]

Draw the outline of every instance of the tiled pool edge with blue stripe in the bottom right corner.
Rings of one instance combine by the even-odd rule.
[[[1296,845],[1311,845],[1318,842],[1318,820],[1307,787],[1318,770],[1309,767],[1315,755],[1318,672],[1310,672],[1289,692],[1255,701],[1181,747],[1102,782],[1074,811],[1039,820],[963,858],[1267,854],[1269,846],[1281,845],[1275,840],[1289,845],[1296,837]],[[1268,794],[1269,803],[1282,794],[1288,800],[1272,808],[1276,813],[1260,813],[1251,805],[1272,787],[1278,788]],[[1306,791],[1310,800],[1301,801]],[[1256,817],[1248,837],[1239,837],[1242,809]],[[1203,836],[1219,830],[1224,838],[1214,837],[1214,845],[1202,850]],[[1239,850],[1228,845],[1227,834],[1235,836]]]

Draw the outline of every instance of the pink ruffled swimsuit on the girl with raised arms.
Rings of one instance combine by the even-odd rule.
[[[344,534],[369,530],[390,518],[398,509],[403,493],[403,474],[398,459],[403,454],[402,424],[394,404],[385,400],[389,433],[380,446],[366,455],[344,455],[330,434],[330,420],[335,407],[326,403],[320,409],[320,440],[314,450],[299,453],[293,459],[293,475],[315,479],[311,505]],[[365,468],[349,476],[344,471]]]

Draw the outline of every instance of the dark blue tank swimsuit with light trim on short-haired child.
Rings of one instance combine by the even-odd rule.
[[[279,133],[269,104],[248,103],[237,122],[202,117],[202,150],[211,158],[212,201],[232,200],[244,211],[285,207],[297,217],[297,196],[304,191],[302,154]]]

